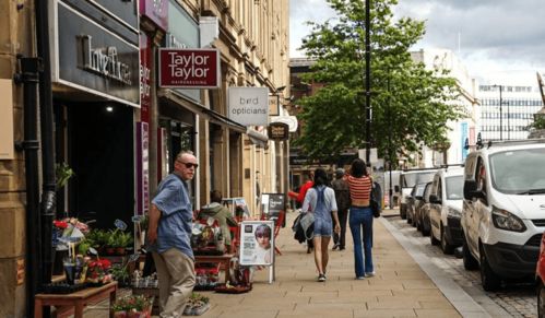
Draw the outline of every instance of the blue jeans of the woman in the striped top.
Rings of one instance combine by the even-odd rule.
[[[348,224],[354,239],[354,263],[356,278],[371,273],[372,267],[372,211],[371,208],[352,207]],[[362,239],[363,233],[363,239]],[[363,246],[362,246],[363,242]],[[364,255],[365,254],[365,263]]]

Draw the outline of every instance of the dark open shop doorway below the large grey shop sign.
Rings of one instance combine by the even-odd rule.
[[[93,228],[114,228],[116,219],[132,228],[133,109],[116,103],[78,103],[58,105],[56,110],[66,118],[66,129],[58,123],[57,140],[63,139],[66,145],[57,161],[67,162],[75,173],[60,208],[70,216],[96,220]]]

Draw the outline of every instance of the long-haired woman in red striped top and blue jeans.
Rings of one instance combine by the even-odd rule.
[[[363,280],[375,275],[371,255],[374,217],[369,205],[372,179],[368,176],[365,162],[360,158],[352,162],[349,174],[344,179],[348,182],[351,190],[352,207],[348,224],[354,239],[355,273],[357,280]],[[362,249],[365,254],[365,262]]]

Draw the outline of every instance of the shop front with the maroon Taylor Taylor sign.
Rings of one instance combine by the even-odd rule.
[[[171,170],[180,150],[196,153],[200,167],[190,188],[193,207],[199,210],[209,202],[212,190],[224,197],[241,195],[241,134],[246,128],[224,115],[221,91],[226,86],[226,68],[216,49],[201,47],[202,25],[197,15],[177,1],[168,1],[167,8],[168,23],[155,68],[157,181]],[[183,76],[189,81],[170,81],[171,76],[165,75],[173,56],[191,70]],[[198,80],[200,75],[208,75],[206,80]]]

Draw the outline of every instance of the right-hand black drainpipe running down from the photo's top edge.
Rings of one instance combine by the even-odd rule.
[[[44,61],[39,76],[39,121],[42,132],[42,284],[51,282],[52,268],[52,222],[56,210],[56,176],[55,176],[55,120],[52,110],[51,57],[49,52],[49,3],[52,1],[36,1],[36,37],[38,56]]]

